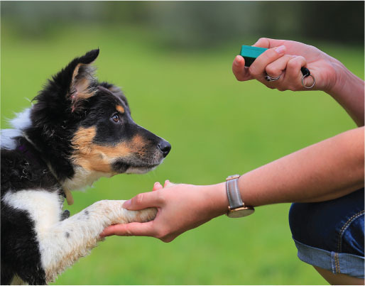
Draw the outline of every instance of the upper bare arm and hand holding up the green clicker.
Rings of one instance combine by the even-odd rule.
[[[364,81],[352,74],[339,60],[321,50],[292,40],[261,38],[256,47],[268,48],[251,67],[244,67],[244,58],[236,56],[232,70],[236,79],[257,79],[269,88],[280,91],[307,90],[301,84],[301,67],[307,67],[315,77],[313,89],[322,90],[333,97],[352,117],[357,126],[364,126]],[[283,47],[283,48],[279,48]],[[267,82],[264,75],[277,77]]]

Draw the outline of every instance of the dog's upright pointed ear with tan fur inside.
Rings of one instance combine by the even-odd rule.
[[[92,62],[98,55],[99,49],[90,50],[82,57],[76,57],[53,77],[53,82],[62,90],[61,96],[70,103],[72,112],[80,106],[82,99],[94,96],[97,91],[95,67],[92,66]]]

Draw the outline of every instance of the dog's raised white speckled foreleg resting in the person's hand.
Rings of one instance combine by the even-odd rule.
[[[40,233],[40,253],[45,277],[53,281],[58,274],[80,257],[89,254],[100,233],[111,224],[132,221],[150,221],[156,209],[129,211],[121,206],[125,201],[99,201],[69,219],[60,221],[44,233]]]

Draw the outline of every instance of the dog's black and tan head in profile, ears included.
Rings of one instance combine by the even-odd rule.
[[[170,144],[138,126],[121,90],[94,77],[99,50],[72,60],[50,79],[31,110],[26,134],[60,180],[144,173],[162,163]],[[70,186],[79,186],[75,183]]]

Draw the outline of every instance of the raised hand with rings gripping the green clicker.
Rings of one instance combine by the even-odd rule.
[[[237,55],[234,59],[232,70],[239,81],[257,79],[271,89],[306,90],[301,83],[303,77],[301,67],[307,67],[315,77],[313,89],[331,93],[336,82],[339,82],[341,70],[344,66],[338,60],[330,57],[321,50],[293,40],[274,40],[260,38],[255,47],[268,48],[252,63],[250,67],[244,66],[244,57]],[[278,77],[275,82],[268,82],[265,75]],[[307,82],[308,81],[308,82]],[[312,83],[311,77],[305,79],[305,85]]]

